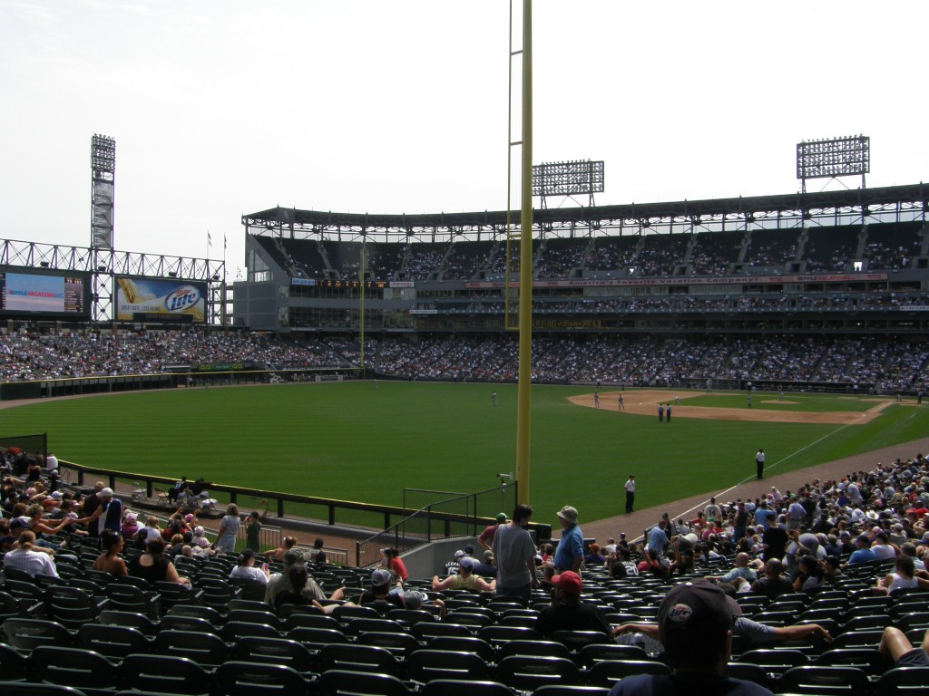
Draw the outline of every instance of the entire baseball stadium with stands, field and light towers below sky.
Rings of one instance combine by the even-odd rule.
[[[597,205],[528,118],[521,211],[245,213],[234,281],[114,248],[93,135],[91,243],[0,239],[4,694],[929,690],[929,187]]]

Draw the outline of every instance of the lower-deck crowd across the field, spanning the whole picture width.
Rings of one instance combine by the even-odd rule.
[[[515,337],[401,337],[365,345],[365,364],[407,380],[509,381],[517,377]],[[923,389],[929,348],[863,339],[700,336],[571,336],[533,340],[539,382],[673,386],[706,380],[858,384],[862,392]],[[360,365],[358,340],[331,336],[296,343],[249,333],[0,335],[0,380],[153,374],[168,366],[251,362],[255,367]]]

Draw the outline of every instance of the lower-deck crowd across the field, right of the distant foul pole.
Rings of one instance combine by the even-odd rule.
[[[379,372],[421,380],[504,380],[517,342],[463,338],[382,343]],[[572,337],[533,341],[533,378],[546,382],[661,386],[682,380],[773,380],[879,385],[894,393],[925,381],[929,351],[919,344],[756,337]]]

